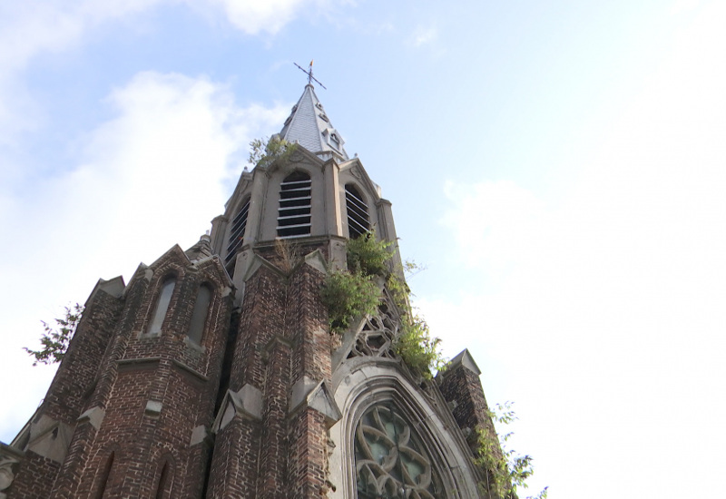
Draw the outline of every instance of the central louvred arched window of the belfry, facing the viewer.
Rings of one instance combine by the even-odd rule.
[[[278,237],[300,238],[310,235],[312,181],[304,171],[294,171],[280,183]]]

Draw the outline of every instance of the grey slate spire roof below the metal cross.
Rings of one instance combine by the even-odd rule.
[[[348,161],[348,152],[343,147],[345,141],[330,122],[311,84],[305,85],[298,103],[292,107],[292,113],[280,131],[280,139],[298,142],[324,160],[334,157],[338,161]]]

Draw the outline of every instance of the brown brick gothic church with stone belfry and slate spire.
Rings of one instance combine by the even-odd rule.
[[[397,236],[311,84],[278,140],[295,145],[242,172],[209,236],[99,280],[43,403],[0,444],[0,498],[495,499],[469,353],[436,379],[409,367],[384,279],[376,313],[331,330],[321,289],[348,240]]]

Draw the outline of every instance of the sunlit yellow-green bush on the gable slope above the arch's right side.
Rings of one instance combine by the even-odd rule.
[[[446,364],[441,353],[440,338],[431,338],[426,320],[419,315],[402,319],[402,328],[394,345],[408,367],[426,379],[432,370],[440,370]]]

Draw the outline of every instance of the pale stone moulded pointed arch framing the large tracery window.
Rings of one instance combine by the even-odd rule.
[[[341,470],[342,474],[334,477],[340,487],[332,497],[358,497],[356,431],[361,417],[374,406],[394,407],[417,434],[419,445],[425,448],[431,469],[443,487],[437,499],[477,497],[477,479],[471,464],[471,451],[463,436],[450,431],[451,425],[456,426],[456,423],[446,421],[446,415],[442,415],[393,362],[372,360],[354,365],[356,367],[347,373],[334,375],[334,379],[338,379],[334,397],[343,418],[330,430],[336,444],[330,469]],[[346,369],[345,364],[340,368]]]

